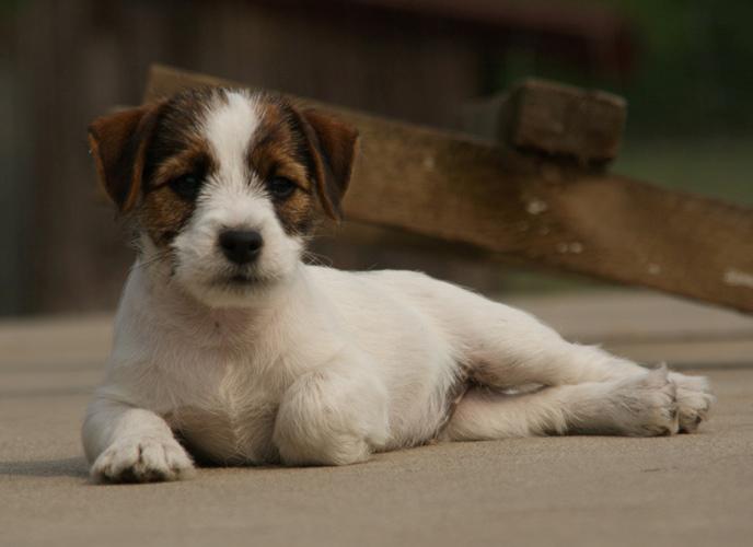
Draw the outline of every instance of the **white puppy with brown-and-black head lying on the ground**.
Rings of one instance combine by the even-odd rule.
[[[194,458],[346,465],[431,440],[698,427],[703,377],[569,344],[421,274],[303,264],[317,209],[340,214],[357,142],[315,110],[229,89],[93,121],[99,177],[138,237],[83,424],[95,479],[178,479]]]

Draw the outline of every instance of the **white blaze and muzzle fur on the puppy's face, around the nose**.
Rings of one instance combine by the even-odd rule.
[[[262,256],[245,272],[258,286],[290,275],[302,249],[277,221],[262,183],[248,167],[248,146],[258,125],[257,104],[241,92],[218,96],[207,109],[202,131],[219,170],[204,185],[189,224],[173,242],[175,279],[196,299],[211,306],[242,306],[256,289],[228,290],[221,279],[231,266],[217,245],[224,229],[257,230],[264,238]],[[149,243],[146,243],[149,245]]]

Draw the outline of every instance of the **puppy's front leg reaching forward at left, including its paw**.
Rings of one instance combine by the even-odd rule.
[[[86,410],[83,445],[95,480],[150,482],[192,475],[194,464],[158,415],[107,398]]]

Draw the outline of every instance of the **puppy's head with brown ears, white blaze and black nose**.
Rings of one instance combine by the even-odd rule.
[[[318,205],[333,219],[358,133],[285,98],[182,92],[95,119],[97,174],[132,219],[144,260],[170,265],[200,301],[244,305],[299,264]]]

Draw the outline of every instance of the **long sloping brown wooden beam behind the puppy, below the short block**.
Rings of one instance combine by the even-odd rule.
[[[146,98],[219,84],[154,67]],[[753,312],[749,209],[318,106],[361,131],[350,220]]]

